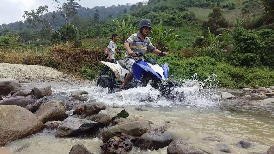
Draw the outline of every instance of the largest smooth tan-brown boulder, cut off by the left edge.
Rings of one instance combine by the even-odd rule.
[[[0,106],[0,145],[24,138],[43,127],[41,120],[25,108],[15,105]]]

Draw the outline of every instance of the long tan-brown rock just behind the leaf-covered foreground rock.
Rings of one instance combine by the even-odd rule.
[[[132,136],[141,136],[151,130],[152,122],[147,120],[142,121],[124,121],[115,126],[106,127],[102,130],[102,140],[104,143],[111,137],[115,136],[115,132],[122,132]]]

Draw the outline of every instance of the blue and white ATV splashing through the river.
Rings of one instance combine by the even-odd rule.
[[[164,54],[158,54],[156,58],[147,58],[143,53],[136,53],[136,57],[143,59],[133,64],[133,79],[128,81],[126,89],[152,86],[160,90],[163,96],[168,96],[175,87],[181,87],[182,84],[176,80],[168,80],[168,64],[159,66],[157,60],[164,57]],[[116,60],[116,63],[102,62],[108,66],[115,74],[112,76],[101,76],[97,81],[97,86],[108,88],[111,91],[118,91],[121,83],[128,74],[128,68],[124,66],[124,60]]]

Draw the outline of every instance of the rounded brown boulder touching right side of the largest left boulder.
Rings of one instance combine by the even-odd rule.
[[[43,123],[46,123],[47,121],[53,120],[63,121],[67,117],[67,114],[63,104],[53,100],[44,104],[36,112],[36,116],[39,117]]]

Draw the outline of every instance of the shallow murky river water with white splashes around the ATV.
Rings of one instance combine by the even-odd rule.
[[[29,86],[29,85],[27,85]],[[184,138],[186,142],[209,153],[218,153],[213,141],[204,141],[202,138],[214,136],[231,147],[231,153],[247,154],[255,151],[267,151],[274,144],[274,118],[263,113],[226,110],[222,108],[222,101],[215,90],[202,90],[197,85],[184,86],[175,91],[184,92],[184,101],[169,101],[158,97],[159,92],[150,87],[137,88],[108,94],[107,89],[97,88],[94,85],[69,85],[51,83],[54,95],[68,96],[73,90],[86,90],[98,102],[110,106],[123,106],[130,114],[129,118],[148,119],[161,126],[168,123],[168,131],[174,139]],[[209,88],[210,89],[210,88]],[[136,111],[136,106],[142,106],[151,111]],[[123,108],[113,108],[117,113]],[[100,153],[102,139],[99,138],[56,138],[55,131],[43,130],[24,139],[8,143],[4,148],[7,151],[20,154],[68,154],[76,143],[82,143],[93,153]],[[255,143],[251,149],[240,149],[235,145],[242,139]],[[132,153],[166,153],[167,147],[154,151],[140,151],[133,148]]]

